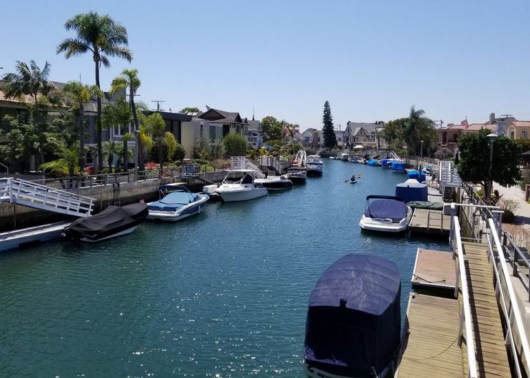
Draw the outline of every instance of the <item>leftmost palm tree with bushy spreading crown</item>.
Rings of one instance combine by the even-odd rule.
[[[40,164],[44,162],[43,150],[43,131],[39,123],[39,94],[47,96],[54,89],[54,85],[48,81],[50,76],[50,63],[46,61],[44,68],[41,70],[35,61],[30,61],[30,65],[25,62],[17,61],[15,69],[17,72],[11,72],[3,76],[9,81],[3,88],[6,97],[19,97],[22,95],[29,95],[34,101],[33,123],[36,125],[37,133],[39,134],[39,158]]]

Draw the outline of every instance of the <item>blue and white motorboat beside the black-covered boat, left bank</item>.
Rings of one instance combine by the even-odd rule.
[[[179,185],[162,185],[159,192],[160,200],[147,204],[147,219],[176,222],[200,213],[209,200],[207,194],[191,193],[187,187]]]

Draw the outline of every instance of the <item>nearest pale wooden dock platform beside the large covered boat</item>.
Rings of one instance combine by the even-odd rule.
[[[407,324],[395,377],[463,377],[457,300],[411,293]]]

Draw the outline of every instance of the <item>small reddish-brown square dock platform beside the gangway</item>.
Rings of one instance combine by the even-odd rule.
[[[454,291],[455,280],[453,253],[418,248],[410,280],[413,288],[440,288]]]

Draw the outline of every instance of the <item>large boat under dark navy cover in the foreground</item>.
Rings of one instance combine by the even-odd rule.
[[[392,377],[401,344],[401,277],[394,262],[349,254],[310,294],[304,373],[312,378]]]

